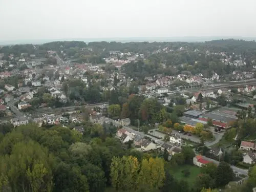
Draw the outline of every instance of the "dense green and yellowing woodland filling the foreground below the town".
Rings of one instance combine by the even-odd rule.
[[[143,154],[130,142],[120,143],[113,125],[85,121],[81,126],[82,135],[68,127],[1,124],[0,191],[204,192],[232,179],[229,164],[210,163],[189,185],[172,174],[177,166],[193,164],[189,146],[169,161],[166,151]],[[256,167],[249,176],[242,186],[225,191],[249,191],[256,183]]]

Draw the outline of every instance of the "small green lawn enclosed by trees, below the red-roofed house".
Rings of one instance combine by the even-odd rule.
[[[182,170],[188,169],[190,175],[185,177]],[[178,180],[185,180],[188,184],[193,187],[197,176],[201,173],[200,167],[196,165],[182,165],[169,169],[169,173],[172,174]]]

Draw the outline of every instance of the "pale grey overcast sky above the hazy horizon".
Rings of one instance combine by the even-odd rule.
[[[256,0],[0,0],[0,39],[256,36]]]

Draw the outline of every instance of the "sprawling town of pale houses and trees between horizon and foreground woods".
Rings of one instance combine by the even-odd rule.
[[[15,131],[19,129],[24,138],[36,137],[33,127],[44,130],[40,134],[45,137],[59,133],[61,136],[53,138],[58,141],[69,131],[67,137],[73,137],[72,141],[60,139],[55,143],[44,137],[37,141],[47,141],[43,145],[63,162],[67,154],[60,151],[70,144],[68,153],[78,158],[79,167],[82,156],[94,164],[89,152],[101,154],[102,149],[96,146],[102,143],[110,151],[121,147],[120,154],[138,159],[163,158],[175,185],[182,186],[184,180],[184,191],[251,187],[256,174],[255,51],[256,42],[234,39],[200,43],[56,41],[2,46],[0,146],[7,147],[5,137],[19,134]],[[108,141],[110,138],[113,140]],[[60,148],[55,149],[54,144]],[[102,158],[96,155],[92,157]],[[124,157],[115,161],[131,164],[132,160]],[[126,190],[127,186],[111,175],[121,168],[114,160],[112,164],[109,161],[100,165],[105,173],[101,167],[92,169],[103,172],[103,184],[90,191],[105,191],[106,185]],[[110,164],[111,170],[104,167]],[[90,179],[88,182],[93,183]],[[160,183],[164,180],[154,184],[159,191],[166,184]],[[129,187],[127,191],[135,191],[133,187],[141,186]]]

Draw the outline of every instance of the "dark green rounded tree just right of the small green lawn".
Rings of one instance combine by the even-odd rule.
[[[233,170],[226,162],[220,162],[216,170],[216,186],[221,187],[233,180]]]

